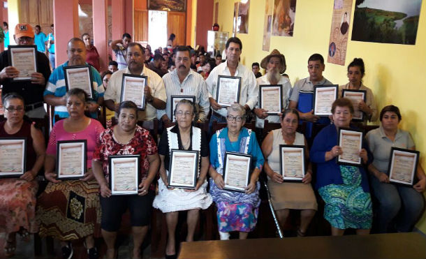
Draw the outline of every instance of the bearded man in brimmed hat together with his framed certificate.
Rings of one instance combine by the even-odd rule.
[[[259,102],[254,108],[256,128],[263,128],[265,119],[273,123],[280,122],[277,113],[287,108],[291,92],[290,81],[282,76],[287,68],[284,54],[279,53],[278,50],[272,50],[271,54],[262,59],[260,66],[267,72],[257,79],[259,86],[265,87],[260,88]],[[279,85],[280,88],[277,87]],[[282,96],[281,100],[279,96]]]

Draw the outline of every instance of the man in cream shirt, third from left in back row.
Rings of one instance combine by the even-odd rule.
[[[145,86],[140,86],[145,96],[145,109],[138,110],[138,119],[140,121],[152,121],[157,118],[157,110],[166,108],[167,96],[161,77],[144,66],[144,53],[144,48],[139,43],[128,44],[126,52],[128,66],[112,74],[108,82],[108,88],[105,91],[105,105],[108,109],[117,112],[120,101],[122,101],[122,86],[125,74],[147,77]],[[136,86],[134,85],[134,87]],[[124,99],[123,101],[128,100]]]

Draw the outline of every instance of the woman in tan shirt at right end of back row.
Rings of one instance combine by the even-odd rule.
[[[367,121],[376,121],[378,112],[372,90],[362,84],[364,75],[364,61],[353,59],[348,65],[349,82],[339,87],[339,97],[349,98],[352,101],[355,109],[353,119],[358,119],[365,125]]]

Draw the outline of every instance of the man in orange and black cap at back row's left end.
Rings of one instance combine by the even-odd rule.
[[[13,35],[17,45],[34,45],[34,31],[30,24],[17,24]],[[46,114],[43,106],[43,91],[50,77],[49,60],[44,53],[36,51],[37,72],[31,74],[29,81],[15,81],[20,74],[17,68],[10,66],[9,52],[0,54],[0,84],[3,84],[2,95],[15,92],[25,101],[25,114],[30,118],[43,118]]]

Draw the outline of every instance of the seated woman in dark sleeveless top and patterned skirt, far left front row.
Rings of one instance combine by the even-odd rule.
[[[0,175],[3,168],[10,168],[14,162],[22,168],[24,157],[25,170],[16,178],[0,179],[0,232],[6,232],[4,253],[13,256],[16,249],[16,233],[26,237],[29,232],[36,232],[36,193],[38,184],[34,180],[43,166],[45,158],[45,141],[41,131],[24,120],[24,98],[18,94],[3,96],[3,112],[6,121],[0,122]],[[27,138],[24,145],[3,143],[3,138]],[[3,145],[4,144],[4,145]],[[7,145],[9,144],[9,145]],[[24,156],[22,156],[24,152]],[[7,163],[7,164],[4,164]],[[15,167],[16,168],[16,167]]]

